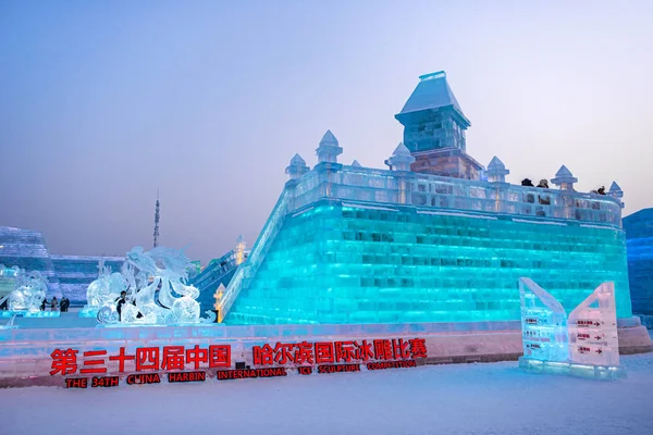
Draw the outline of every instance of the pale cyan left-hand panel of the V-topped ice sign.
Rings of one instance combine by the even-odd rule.
[[[569,358],[565,308],[530,278],[519,279],[523,356],[541,361]]]

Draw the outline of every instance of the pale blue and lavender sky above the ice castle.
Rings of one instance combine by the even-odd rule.
[[[124,254],[160,188],[161,244],[219,257],[328,128],[382,167],[439,70],[481,163],[653,207],[652,23],[652,1],[0,0],[0,225]]]

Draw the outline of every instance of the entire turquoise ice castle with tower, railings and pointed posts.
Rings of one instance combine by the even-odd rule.
[[[296,154],[289,181],[247,260],[218,295],[230,324],[517,321],[520,277],[565,307],[615,283],[631,318],[620,198],[506,183],[496,157],[467,153],[470,126],[444,72],[420,77],[395,115],[404,140],[387,170],[338,163],[326,132],[310,169]]]

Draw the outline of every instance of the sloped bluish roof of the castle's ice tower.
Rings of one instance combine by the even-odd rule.
[[[429,109],[443,109],[453,107],[466,121],[467,119],[463,114],[463,109],[458,104],[458,100],[454,96],[452,88],[446,82],[446,73],[439,71],[436,73],[424,74],[419,77],[419,84],[417,88],[406,101],[404,109],[399,115],[411,112],[419,112]],[[469,125],[469,121],[467,121]]]

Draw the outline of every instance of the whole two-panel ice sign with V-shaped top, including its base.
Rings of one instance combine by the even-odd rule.
[[[619,368],[614,283],[601,284],[568,318],[564,307],[532,279],[520,278],[519,293],[520,368],[599,380],[625,377]]]

